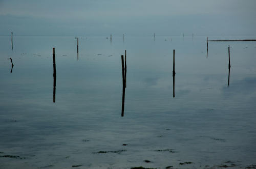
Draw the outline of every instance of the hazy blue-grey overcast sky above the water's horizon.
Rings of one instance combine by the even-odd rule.
[[[255,0],[0,0],[0,35],[256,35]]]

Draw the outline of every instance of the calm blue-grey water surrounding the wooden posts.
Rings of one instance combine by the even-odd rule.
[[[209,42],[206,57],[205,40],[79,37],[77,56],[75,37],[14,36],[12,50],[1,36],[0,168],[256,164],[256,42]]]

